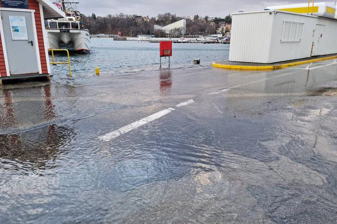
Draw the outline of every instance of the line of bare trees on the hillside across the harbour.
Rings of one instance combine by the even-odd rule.
[[[154,25],[166,26],[183,19],[175,14],[159,14],[157,18],[121,18],[113,15],[97,17],[94,13],[91,16],[84,16],[83,23],[92,34],[117,34],[122,36],[137,36],[142,34],[153,34],[163,36],[163,33],[154,31]],[[192,21],[186,23],[186,34],[206,35],[213,34],[219,28],[220,23],[231,23],[231,16],[225,18],[214,18],[210,21],[209,17],[199,17],[195,15]]]

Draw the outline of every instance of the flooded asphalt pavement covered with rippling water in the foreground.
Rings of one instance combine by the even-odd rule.
[[[0,89],[1,223],[335,223],[337,65]]]

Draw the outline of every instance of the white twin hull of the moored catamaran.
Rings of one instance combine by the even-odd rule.
[[[78,54],[90,53],[90,33],[87,29],[46,28],[49,49],[67,49]]]

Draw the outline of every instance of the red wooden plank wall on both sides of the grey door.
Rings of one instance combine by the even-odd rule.
[[[35,23],[36,23],[37,34],[38,34],[42,73],[48,73],[47,63],[49,62],[47,62],[47,59],[46,59],[45,42],[43,39],[43,30],[42,30],[42,26],[44,24],[41,22],[40,6],[39,6],[39,3],[35,0],[28,0],[28,4],[29,4],[29,9],[35,10]],[[5,60],[4,60],[4,51],[3,51],[3,47],[1,43],[1,37],[0,37],[0,72],[1,72],[1,77],[7,76],[6,65],[5,65]]]

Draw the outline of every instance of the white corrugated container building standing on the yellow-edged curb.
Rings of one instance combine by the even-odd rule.
[[[280,11],[232,16],[229,60],[275,63],[337,53],[337,21]]]

